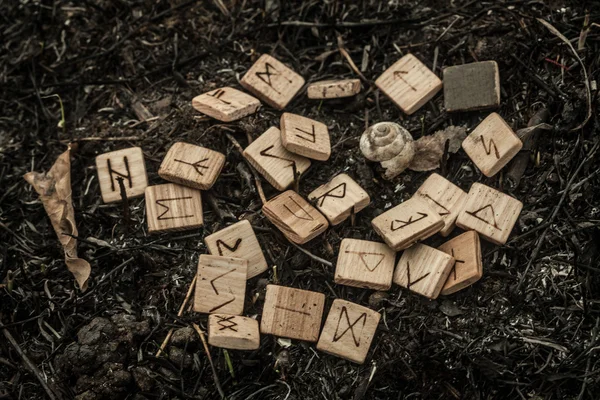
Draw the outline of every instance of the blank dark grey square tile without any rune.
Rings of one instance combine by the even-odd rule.
[[[448,112],[498,108],[498,63],[481,61],[445,68],[444,104]]]

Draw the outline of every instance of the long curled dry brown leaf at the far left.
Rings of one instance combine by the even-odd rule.
[[[65,251],[65,264],[82,291],[87,289],[90,264],[77,257],[77,225],[71,201],[71,146],[62,153],[47,173],[28,172],[24,176],[40,195],[54,231]],[[73,235],[73,236],[70,236]]]

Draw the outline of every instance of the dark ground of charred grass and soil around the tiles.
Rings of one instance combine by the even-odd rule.
[[[537,18],[575,48],[589,27],[578,51],[582,63]],[[370,305],[383,318],[362,366],[311,344],[285,348],[269,336],[258,351],[211,348],[229,398],[598,398],[600,30],[590,24],[599,20],[594,3],[566,1],[0,2],[0,399],[218,398],[190,329],[192,322],[205,328],[206,316],[176,314],[198,255],[206,252],[203,237],[235,218],[252,222],[269,264],[277,266],[277,276],[270,269],[249,281],[247,315],[260,315],[264,286],[277,281],[325,293],[327,307],[339,297]],[[553,129],[539,131],[519,156],[524,173],[509,166],[485,178],[462,151],[438,171],[465,190],[483,182],[524,203],[505,246],[483,243],[484,277],[474,286],[429,301],[397,286],[374,293],[335,285],[332,268],[292,247],[265,220],[246,178],[249,167],[225,135],[245,146],[248,136],[277,125],[280,112],[265,106],[223,124],[191,107],[202,92],[239,88],[261,53],[309,82],[356,77],[338,43],[362,68],[363,92],[328,102],[300,94],[287,107],[325,122],[333,145],[331,159],[315,162],[302,177],[301,194],[344,171],[373,201],[355,226],[346,221],[304,246],[333,263],[342,238],[378,239],[371,219],[409,198],[429,175],[382,180],[379,167],[358,150],[367,125],[397,121],[418,138],[449,125],[472,129],[487,115],[449,115],[442,95],[403,115],[372,85],[401,54],[414,53],[440,76],[446,66],[496,60],[499,112],[509,124],[524,128],[546,113]],[[586,118],[584,68],[593,81],[594,113],[572,131]],[[204,229],[149,236],[143,199],[129,202],[129,224],[121,204],[102,203],[94,157],[140,146],[150,183],[157,184],[158,166],[175,141],[221,151],[227,163],[204,196],[215,200],[204,203]],[[85,293],[65,268],[38,196],[22,179],[48,170],[69,142],[78,145],[72,187],[79,254],[93,268]],[[268,197],[276,193],[263,186]],[[183,330],[165,357],[155,357],[172,327]]]

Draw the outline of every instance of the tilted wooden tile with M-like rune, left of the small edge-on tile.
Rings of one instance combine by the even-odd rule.
[[[283,110],[304,86],[304,78],[279,60],[263,54],[240,84],[271,107]]]

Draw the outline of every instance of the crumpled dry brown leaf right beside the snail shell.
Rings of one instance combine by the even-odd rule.
[[[433,135],[423,136],[415,141],[415,156],[408,168],[419,172],[439,168],[446,141],[449,141],[448,152],[456,153],[466,137],[467,130],[462,126],[449,126]]]

